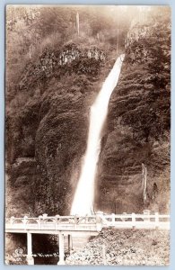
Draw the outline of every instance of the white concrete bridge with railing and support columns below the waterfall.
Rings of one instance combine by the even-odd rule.
[[[68,250],[73,245],[72,237],[80,233],[87,236],[95,236],[103,228],[116,229],[170,229],[170,215],[160,215],[158,212],[150,214],[123,213],[104,214],[101,211],[94,215],[86,216],[48,216],[43,214],[38,218],[11,217],[5,220],[6,233],[27,234],[27,262],[34,265],[32,257],[32,234],[54,234],[57,235],[59,261],[57,265],[65,264],[65,237],[68,238]]]

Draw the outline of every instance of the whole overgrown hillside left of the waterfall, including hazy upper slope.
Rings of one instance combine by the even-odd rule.
[[[127,11],[109,19],[110,8],[98,8],[7,7],[6,157],[15,201],[9,214],[69,211],[89,107],[129,27]],[[88,58],[88,49],[103,57]],[[60,64],[67,51],[80,57]]]

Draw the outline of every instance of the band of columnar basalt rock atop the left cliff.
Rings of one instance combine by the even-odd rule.
[[[66,72],[96,75],[97,63],[104,62],[106,58],[106,53],[97,47],[80,49],[74,43],[55,51],[46,47],[36,63],[29,62],[25,67],[19,88],[27,89],[31,83],[36,87],[41,81],[53,76],[60,78]]]

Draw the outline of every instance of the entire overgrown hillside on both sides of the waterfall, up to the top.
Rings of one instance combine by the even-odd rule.
[[[69,212],[86,148],[89,108],[124,50],[101,139],[96,208],[168,211],[169,9],[8,6],[6,29],[7,213]],[[142,163],[148,169],[147,205]]]

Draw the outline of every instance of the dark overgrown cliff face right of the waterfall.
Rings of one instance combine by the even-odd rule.
[[[137,23],[128,32],[101,142],[96,203],[103,211],[169,211],[170,48],[168,21]],[[142,163],[148,171],[146,204]]]

